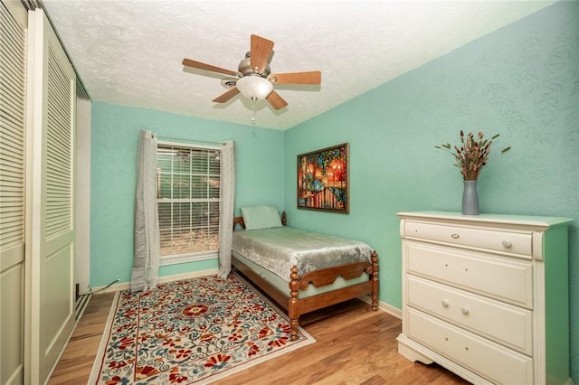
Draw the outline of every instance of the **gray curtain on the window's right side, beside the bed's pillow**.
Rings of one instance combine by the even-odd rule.
[[[222,144],[219,201],[219,277],[232,270],[233,210],[235,207],[235,144]]]

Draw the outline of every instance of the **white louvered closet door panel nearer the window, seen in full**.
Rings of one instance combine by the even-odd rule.
[[[29,12],[33,82],[31,380],[43,383],[74,327],[75,74],[42,9]],[[30,115],[29,115],[30,117]]]

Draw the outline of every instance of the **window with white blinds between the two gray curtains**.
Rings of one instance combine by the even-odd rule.
[[[163,259],[215,258],[219,249],[221,151],[157,145],[157,205]],[[166,261],[165,261],[166,262]],[[162,264],[164,264],[162,262]]]

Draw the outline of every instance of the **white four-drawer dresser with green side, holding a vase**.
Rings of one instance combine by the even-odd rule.
[[[572,384],[567,218],[399,212],[398,352],[472,383]]]

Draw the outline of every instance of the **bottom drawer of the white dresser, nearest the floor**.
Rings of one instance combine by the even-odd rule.
[[[502,384],[533,383],[533,360],[412,308],[408,336],[451,361]]]

